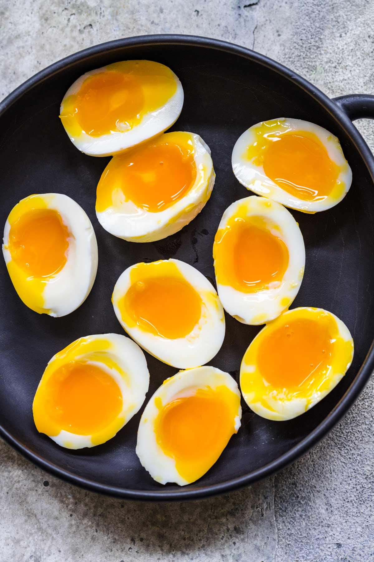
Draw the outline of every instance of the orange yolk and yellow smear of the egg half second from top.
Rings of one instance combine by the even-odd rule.
[[[118,206],[123,198],[150,212],[168,209],[195,183],[194,157],[188,133],[165,133],[130,153],[114,156],[98,184],[96,211]]]

